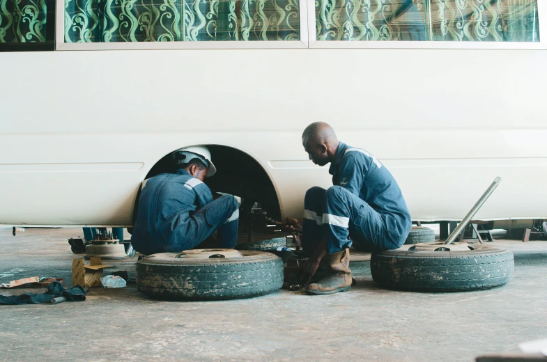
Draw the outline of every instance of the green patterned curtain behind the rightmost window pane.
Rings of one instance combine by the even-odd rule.
[[[432,40],[539,42],[537,0],[431,0]]]

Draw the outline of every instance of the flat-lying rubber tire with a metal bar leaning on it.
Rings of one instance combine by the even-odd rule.
[[[380,286],[423,292],[488,289],[511,281],[511,251],[475,246],[474,251],[405,251],[371,255],[372,279]]]

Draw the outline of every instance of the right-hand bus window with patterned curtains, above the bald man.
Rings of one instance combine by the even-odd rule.
[[[537,0],[317,0],[317,40],[539,42]]]

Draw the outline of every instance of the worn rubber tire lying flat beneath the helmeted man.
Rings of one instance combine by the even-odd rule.
[[[176,259],[174,253],[137,262],[137,290],[158,299],[223,300],[258,297],[283,286],[283,262],[272,253],[245,258]],[[160,257],[165,257],[163,260]]]

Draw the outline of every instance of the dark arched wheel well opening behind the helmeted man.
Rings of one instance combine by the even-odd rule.
[[[278,220],[281,218],[281,207],[275,187],[268,173],[256,159],[236,148],[224,145],[206,146],[217,168],[217,173],[205,180],[211,191],[239,196],[247,207],[251,207],[255,202],[259,203],[262,210],[268,212],[269,217]],[[146,178],[175,170],[176,165],[169,152],[151,168]]]

